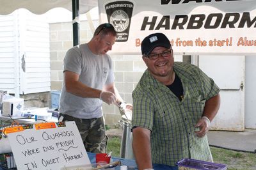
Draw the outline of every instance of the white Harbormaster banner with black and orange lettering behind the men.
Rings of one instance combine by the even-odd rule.
[[[116,29],[115,54],[141,54],[143,38],[157,32],[175,53],[255,54],[255,0],[99,0],[99,16]]]

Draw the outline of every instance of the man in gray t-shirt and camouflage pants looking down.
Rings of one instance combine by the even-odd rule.
[[[89,152],[106,151],[102,101],[116,105],[124,102],[115,88],[112,61],[106,54],[115,40],[115,28],[101,24],[90,42],[72,47],[64,59],[59,121],[76,121]]]

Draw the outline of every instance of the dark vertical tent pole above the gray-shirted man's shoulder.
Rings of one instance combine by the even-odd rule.
[[[72,0],[72,24],[73,24],[73,46],[80,43],[79,41],[79,0]]]

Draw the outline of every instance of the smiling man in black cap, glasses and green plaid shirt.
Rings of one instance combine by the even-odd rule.
[[[132,147],[139,169],[175,167],[181,158],[212,161],[207,132],[220,108],[220,88],[200,68],[174,62],[162,33],[141,43],[148,69],[132,93]]]

